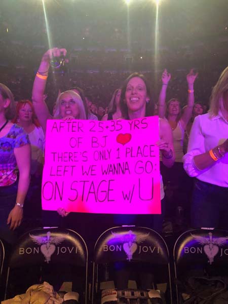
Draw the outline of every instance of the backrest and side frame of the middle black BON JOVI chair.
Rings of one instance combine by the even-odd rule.
[[[92,295],[97,275],[96,266],[119,261],[167,265],[171,286],[169,251],[161,235],[146,227],[120,226],[106,230],[95,244]]]

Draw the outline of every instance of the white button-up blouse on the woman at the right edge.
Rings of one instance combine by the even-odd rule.
[[[197,116],[189,137],[187,154],[183,157],[187,174],[211,184],[228,187],[228,153],[204,170],[198,170],[193,162],[196,155],[213,149],[227,138],[228,122],[223,118],[221,112],[216,117],[211,117],[210,113]]]

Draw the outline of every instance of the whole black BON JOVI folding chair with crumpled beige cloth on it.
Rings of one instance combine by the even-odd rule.
[[[27,285],[26,288],[32,284],[43,283],[43,280],[48,280],[47,278],[54,281],[59,280],[60,285],[62,281],[66,281],[65,277],[70,282],[75,282],[78,272],[69,276],[69,273],[65,271],[73,272],[74,269],[80,270],[82,273],[82,278],[78,280],[83,282],[80,288],[83,289],[82,302],[86,303],[88,250],[83,238],[77,232],[69,229],[47,228],[31,230],[20,237],[12,250],[8,265],[5,299],[9,298],[9,296],[14,296],[15,291],[19,292],[21,288],[20,280],[26,281],[27,279],[28,282],[24,284],[24,286]],[[18,273],[19,271],[23,273],[23,276],[19,275],[21,279],[16,283],[12,283],[15,281],[16,270]],[[30,270],[32,271],[30,272]],[[33,273],[35,273],[34,276]],[[9,287],[12,289],[12,286],[13,292],[10,292]],[[25,290],[20,291],[20,293],[24,292]]]

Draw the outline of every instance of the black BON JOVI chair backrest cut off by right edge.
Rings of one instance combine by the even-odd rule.
[[[228,264],[228,231],[218,229],[193,229],[184,232],[174,245],[174,270],[176,279],[191,271],[206,269],[219,274]],[[178,286],[176,284],[178,297]]]

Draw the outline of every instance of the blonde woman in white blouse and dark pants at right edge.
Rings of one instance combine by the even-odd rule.
[[[228,67],[211,94],[207,114],[195,118],[183,157],[184,169],[196,177],[191,223],[228,228]]]

